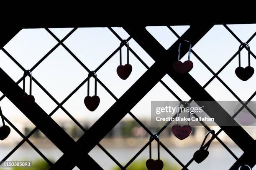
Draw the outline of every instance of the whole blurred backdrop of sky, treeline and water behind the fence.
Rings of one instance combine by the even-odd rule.
[[[247,41],[253,33],[256,32],[255,24],[248,25],[228,25],[228,27],[243,41]],[[182,35],[189,26],[171,26],[178,35]],[[60,40],[64,38],[73,28],[50,29]],[[122,39],[127,39],[129,35],[123,28],[112,28]],[[148,32],[166,49],[168,49],[177,37],[166,27],[147,27]],[[58,42],[45,29],[23,29],[13,37],[4,49],[17,60],[25,69],[31,69],[44,55],[47,54]],[[110,56],[120,45],[120,40],[108,28],[78,28],[67,40],[64,41],[72,54],[77,56],[84,65],[90,70],[95,70],[108,56]],[[141,57],[149,67],[154,60],[133,40],[129,45]],[[202,60],[214,71],[218,70],[227,62],[238,50],[240,43],[228,32],[223,25],[215,25],[192,49],[201,57]],[[256,38],[253,38],[249,45],[251,51],[256,52]],[[126,49],[123,47],[123,63],[126,63]],[[32,75],[44,88],[58,101],[62,102],[87,76],[88,72],[84,70],[79,63],[74,60],[72,54],[59,45],[46,59],[41,62]],[[247,66],[247,51],[241,52],[241,65]],[[159,56],[161,57],[161,56]],[[177,57],[177,56],[170,56]],[[182,61],[187,60],[183,57]],[[213,76],[207,68],[194,56],[191,55],[194,68],[189,72],[200,85],[210,80]],[[119,52],[97,71],[97,77],[106,87],[117,97],[123,95],[136,80],[138,80],[146,68],[130,52],[130,64],[133,71],[127,80],[121,80],[117,73],[116,67],[119,65]],[[256,61],[251,57],[251,66],[255,66]],[[14,80],[18,81],[23,76],[23,71],[13,62],[8,54],[0,50],[0,67],[8,73]],[[172,67],[172,65],[170,65]],[[238,67],[238,56],[220,72],[220,78],[240,97],[241,100],[248,100],[255,92],[256,76],[246,82],[241,81],[235,75],[235,69]],[[28,78],[27,78],[28,80]],[[162,79],[171,90],[175,92],[183,101],[190,100],[190,97],[184,92],[168,75]],[[26,81],[28,82],[28,81]],[[22,82],[20,82],[22,87]],[[29,89],[26,84],[26,91]],[[210,82],[205,88],[215,100],[237,99],[217,80]],[[27,91],[28,92],[28,91]],[[94,93],[94,81],[91,81],[90,94]],[[36,83],[32,83],[32,94],[36,102],[46,113],[50,114],[56,107],[56,103],[41,90]],[[1,95],[3,95],[1,93]],[[73,117],[85,128],[89,129],[99,117],[101,117],[108,108],[113,105],[115,99],[98,83],[97,95],[100,97],[100,105],[94,112],[90,112],[84,106],[84,97],[87,95],[87,83],[85,83],[77,92],[70,97],[63,107],[71,113]],[[161,83],[158,83],[143,99],[131,110],[133,115],[138,117],[152,133],[157,133],[159,128],[151,126],[151,101],[152,100],[177,100]],[[252,100],[255,100],[253,97]],[[5,117],[20,130],[23,135],[28,135],[35,128],[35,125],[13,105],[6,97],[0,101]],[[234,108],[235,112],[235,108]],[[35,113],[36,114],[36,113]],[[113,113],[113,116],[118,112]],[[218,113],[216,113],[218,114]],[[232,115],[234,113],[230,113]],[[78,140],[84,133],[83,131],[66,115],[60,108],[51,116],[74,140]],[[243,128],[256,139],[255,121],[250,126]],[[46,124],[47,126],[47,124]],[[104,127],[102,127],[104,128]],[[211,129],[217,132],[220,128],[218,125],[211,126]],[[185,140],[178,140],[171,132],[171,126],[168,126],[160,135],[160,140],[166,147],[185,165],[192,158],[196,150],[200,148],[202,140],[207,130],[203,126],[193,127],[192,135]],[[57,135],[57,134],[56,134]],[[97,134],[95,134],[97,135]],[[231,140],[228,135],[221,132],[218,137],[223,141],[230,150],[240,157],[243,151]],[[11,133],[5,140],[0,142],[0,159],[8,157],[8,161],[31,160],[32,169],[48,169],[49,165],[41,156],[24,142],[12,155],[8,155],[23,138],[11,128]],[[53,163],[58,160],[63,153],[43,134],[37,130],[29,140]],[[148,142],[149,135],[146,131],[127,114],[115,128],[108,133],[100,144],[118,160],[125,165],[133,158],[136,153]],[[65,142],[65,141],[63,141]],[[156,142],[152,143],[152,157],[157,158]],[[218,140],[214,140],[209,148],[210,155],[200,164],[193,162],[188,169],[191,170],[213,170],[230,168],[236,159],[223,147]],[[118,170],[108,155],[106,155],[97,146],[91,150],[89,155],[105,170]],[[160,147],[161,160],[164,161],[165,169],[179,170],[181,166]],[[149,148],[147,147],[128,166],[130,170],[144,170],[145,163],[149,158]],[[214,160],[214,161],[213,161]],[[41,169],[40,169],[41,168]],[[77,167],[74,169],[78,169]],[[15,169],[22,170],[22,169]],[[254,168],[254,170],[256,170]]]

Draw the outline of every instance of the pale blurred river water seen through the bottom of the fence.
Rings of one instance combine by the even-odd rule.
[[[239,158],[243,151],[240,148],[229,146],[229,148],[235,153]],[[108,152],[114,156],[122,165],[125,165],[133,155],[135,155],[140,148],[106,148]],[[187,147],[187,148],[168,148],[183,164],[192,158],[193,153],[198,150],[198,147]],[[11,147],[0,147],[0,158],[3,159],[9,152],[12,150]],[[47,158],[56,161],[62,155],[61,151],[58,149],[52,148],[39,148]],[[189,165],[189,170],[228,170],[233,163],[236,162],[236,159],[228,153],[225,148],[220,145],[213,145],[209,148],[210,155],[208,158],[200,164],[193,162]],[[107,155],[105,155],[99,148],[94,148],[89,154],[95,161],[104,169],[111,170],[115,163],[113,163]],[[148,148],[144,150],[139,156],[140,159],[148,159]],[[153,158],[157,156],[156,148],[152,148]],[[161,148],[160,156],[162,160],[165,160],[171,164],[177,164],[177,162]],[[40,155],[36,153],[32,148],[21,147],[19,148],[8,160],[36,160],[40,158]],[[137,159],[136,159],[137,160]],[[33,162],[32,162],[33,163]],[[74,168],[78,170],[78,168]],[[256,168],[253,168],[256,170]]]

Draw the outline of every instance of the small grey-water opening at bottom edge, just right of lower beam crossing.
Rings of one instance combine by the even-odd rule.
[[[115,162],[111,160],[98,146],[95,146],[89,153],[90,157],[95,160],[104,170],[110,170],[113,168]]]

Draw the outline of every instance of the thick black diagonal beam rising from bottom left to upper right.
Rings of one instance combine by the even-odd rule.
[[[192,45],[195,45],[203,35],[211,28],[207,27],[195,27],[192,26],[187,30],[187,32],[182,35],[182,40],[189,40]],[[138,29],[138,28],[136,28]],[[146,29],[143,28],[145,31]],[[133,37],[133,36],[132,36]],[[177,48],[179,45],[179,40],[175,42],[170,48],[170,55],[177,55]],[[154,48],[154,47],[153,47]],[[186,50],[181,51],[181,55],[185,55]],[[160,60],[155,62],[119,99],[115,102],[102,117],[100,117],[97,122],[85,133],[82,137],[77,140],[76,148],[70,150],[69,154],[64,154],[52,167],[52,169],[72,169],[75,163],[79,163],[79,158],[77,158],[77,153],[86,154],[89,153],[95,144],[100,142],[105,135],[112,130],[116,124],[131,110],[142,98],[146,95],[159,80],[167,72],[168,61],[170,57],[166,56],[166,52],[159,54]],[[167,62],[166,62],[167,60]],[[136,94],[136,95],[135,95]],[[118,114],[114,114],[118,112]],[[114,115],[113,115],[114,114]],[[104,128],[102,128],[104,127]],[[97,134],[97,135],[95,135]],[[77,154],[77,155],[76,155]],[[69,161],[67,161],[69,160]],[[65,164],[65,165],[64,165]]]

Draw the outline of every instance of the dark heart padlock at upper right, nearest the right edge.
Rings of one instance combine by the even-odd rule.
[[[247,46],[247,50],[248,50],[248,66],[243,68],[241,67],[241,47],[243,45],[246,45]],[[251,76],[253,75],[254,73],[254,69],[253,67],[251,67],[251,56],[250,56],[250,46],[248,45],[248,43],[243,43],[239,46],[239,53],[238,53],[238,63],[239,63],[239,67],[236,68],[235,70],[235,73],[236,73],[236,76],[243,80],[243,81],[246,81],[248,80],[249,78],[251,78]]]

